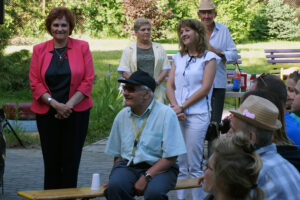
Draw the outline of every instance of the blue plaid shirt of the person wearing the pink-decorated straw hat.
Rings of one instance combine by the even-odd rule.
[[[277,153],[275,144],[261,147],[256,152],[263,161],[257,184],[265,192],[265,200],[299,200],[299,172]]]

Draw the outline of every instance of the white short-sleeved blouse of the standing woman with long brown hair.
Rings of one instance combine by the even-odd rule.
[[[191,57],[188,54],[185,54],[183,57],[181,57],[179,52],[173,56],[174,64],[176,66],[174,80],[175,97],[178,105],[182,105],[202,87],[205,62],[212,59],[216,59],[218,62],[221,58],[211,51],[205,51],[204,56],[201,58],[194,57],[190,62],[188,62],[190,59]],[[208,109],[211,110],[211,93],[212,88],[208,93],[209,108],[207,108],[206,97],[203,97],[197,103],[187,107],[184,112],[186,114],[207,113]]]

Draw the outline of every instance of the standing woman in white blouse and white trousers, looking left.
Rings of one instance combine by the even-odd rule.
[[[179,179],[200,177],[203,146],[210,121],[212,84],[217,69],[215,53],[208,51],[205,26],[198,20],[179,22],[177,33],[180,52],[173,56],[174,63],[167,83],[167,97],[180,120],[187,154],[178,157]],[[185,191],[177,192],[178,199]],[[193,199],[202,199],[202,188],[192,189]]]

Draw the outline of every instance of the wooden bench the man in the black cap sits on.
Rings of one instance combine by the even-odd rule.
[[[173,190],[189,189],[201,187],[198,184],[198,178],[189,178],[178,180]],[[102,186],[100,190],[91,190],[91,188],[67,188],[54,190],[32,190],[20,191],[18,195],[31,200],[56,200],[56,199],[70,199],[81,198],[90,199],[95,197],[104,197],[105,188]]]

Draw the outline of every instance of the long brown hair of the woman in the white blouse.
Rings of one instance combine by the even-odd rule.
[[[196,51],[198,53],[198,57],[201,57],[205,50],[208,49],[208,40],[206,35],[206,27],[204,24],[196,19],[186,19],[182,20],[178,23],[177,26],[177,35],[179,38],[179,48],[180,48],[180,54],[181,56],[188,53],[187,47],[183,44],[183,42],[180,40],[180,32],[181,28],[189,27],[193,29],[196,32]]]

